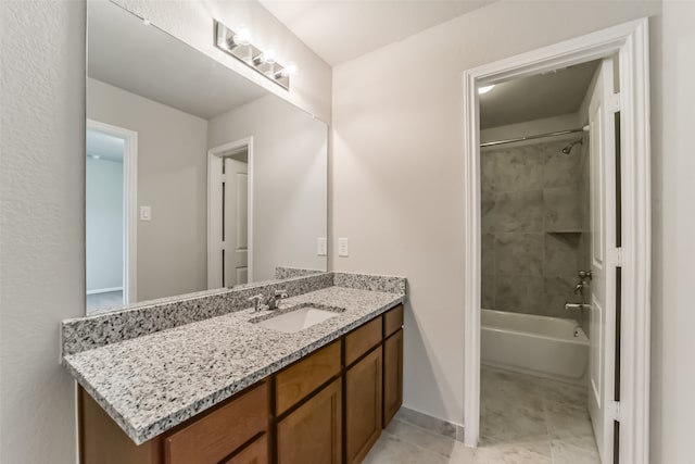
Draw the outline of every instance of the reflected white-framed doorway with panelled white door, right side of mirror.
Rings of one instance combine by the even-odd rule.
[[[207,288],[253,281],[253,137],[207,152]]]

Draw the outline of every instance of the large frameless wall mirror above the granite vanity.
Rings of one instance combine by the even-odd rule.
[[[88,313],[326,271],[324,123],[113,3],[87,40]]]

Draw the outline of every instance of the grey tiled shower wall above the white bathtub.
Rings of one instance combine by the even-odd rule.
[[[577,272],[586,267],[586,143],[569,141],[484,150],[482,306],[580,318],[565,310]]]

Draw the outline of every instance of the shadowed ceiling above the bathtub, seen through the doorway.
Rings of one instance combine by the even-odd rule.
[[[514,79],[480,96],[480,128],[576,113],[599,61]]]

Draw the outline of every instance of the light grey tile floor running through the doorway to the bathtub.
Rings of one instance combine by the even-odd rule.
[[[601,464],[586,390],[483,367],[477,449],[397,415],[365,464]]]

